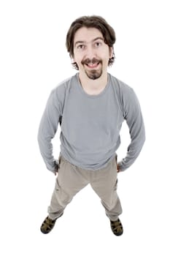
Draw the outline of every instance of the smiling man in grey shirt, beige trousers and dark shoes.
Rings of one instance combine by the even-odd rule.
[[[117,196],[117,173],[130,167],[144,144],[144,122],[134,90],[107,72],[115,53],[115,31],[104,18],[74,20],[66,48],[79,70],[50,94],[39,126],[39,148],[47,169],[58,173],[55,189],[42,223],[49,233],[74,195],[88,184],[101,198],[112,232],[123,234]],[[126,157],[117,163],[120,128],[126,121],[131,135]],[[61,124],[61,153],[53,157],[53,144]]]

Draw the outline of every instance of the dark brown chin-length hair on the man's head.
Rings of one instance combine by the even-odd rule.
[[[70,57],[74,57],[74,35],[76,31],[83,26],[87,28],[96,28],[99,31],[101,31],[101,34],[104,37],[104,42],[113,49],[113,56],[108,61],[108,66],[112,66],[114,60],[115,60],[115,53],[113,45],[115,44],[116,37],[115,37],[115,31],[112,29],[111,26],[107,23],[104,18],[101,16],[82,16],[80,18],[77,18],[74,20],[74,22],[71,24],[69,31],[66,35],[66,48],[69,52]],[[76,69],[79,69],[77,66],[77,63],[72,63],[73,67]]]

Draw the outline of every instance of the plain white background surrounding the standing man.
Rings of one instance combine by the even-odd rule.
[[[93,14],[115,29],[117,59],[109,72],[136,91],[147,140],[134,165],[119,174],[123,236],[112,234],[90,187],[45,236],[39,227],[55,176],[40,156],[37,130],[50,91],[76,72],[66,32],[75,18]],[[1,1],[1,255],[170,255],[169,22],[168,0]],[[119,158],[129,142],[125,124],[121,136]]]

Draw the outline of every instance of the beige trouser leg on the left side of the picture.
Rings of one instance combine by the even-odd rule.
[[[61,156],[55,189],[50,206],[48,207],[50,219],[60,217],[66,206],[72,201],[74,195],[88,185],[88,183],[89,180],[85,176],[85,172]]]

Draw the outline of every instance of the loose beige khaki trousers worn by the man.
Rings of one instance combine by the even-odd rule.
[[[100,170],[84,170],[72,165],[61,155],[55,189],[48,207],[50,219],[60,217],[74,195],[88,184],[101,198],[107,217],[112,221],[117,220],[117,217],[122,213],[122,208],[117,196],[116,158],[108,162],[107,167]]]

